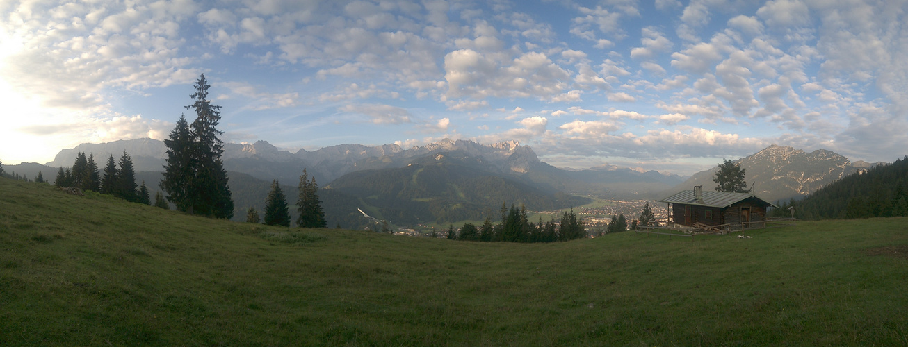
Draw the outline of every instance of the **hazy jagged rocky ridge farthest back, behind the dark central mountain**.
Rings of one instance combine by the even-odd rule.
[[[139,139],[82,144],[74,149],[64,149],[48,165],[71,167],[76,153],[84,151],[94,153],[100,167],[110,154],[119,159],[123,149],[133,157],[133,166],[137,171],[161,171],[166,163],[163,141]],[[533,149],[517,141],[483,145],[469,140],[445,139],[410,149],[394,144],[373,147],[345,144],[311,151],[300,149],[296,153],[278,149],[266,141],[256,141],[251,144],[225,143],[222,159],[224,169],[228,171],[245,173],[269,182],[274,178],[281,182],[293,182],[305,168],[311,177],[325,185],[350,172],[402,168],[414,159],[431,157],[440,152],[458,152],[481,158],[487,170],[552,194],[566,192],[607,198],[653,198],[654,192],[680,182],[676,175],[614,166],[579,171],[558,169],[540,161]]]

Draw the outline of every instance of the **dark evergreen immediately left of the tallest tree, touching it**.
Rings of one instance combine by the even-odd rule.
[[[191,183],[195,177],[192,167],[192,133],[182,114],[171,131],[170,138],[164,140],[164,146],[167,147],[167,165],[164,166],[160,186],[167,193],[167,200],[176,205],[177,210],[192,212]]]

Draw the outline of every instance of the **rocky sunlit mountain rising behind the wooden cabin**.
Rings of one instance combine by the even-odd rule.
[[[869,167],[854,167],[849,159],[825,149],[807,153],[790,146],[776,145],[735,162],[746,169],[747,187],[755,188],[754,193],[758,197],[773,202],[803,198],[839,178]],[[716,188],[713,181],[716,169],[700,171],[665,194],[692,189],[695,185],[712,190]]]

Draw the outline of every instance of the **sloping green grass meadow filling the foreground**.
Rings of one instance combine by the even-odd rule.
[[[479,244],[0,179],[0,345],[908,345],[908,218]]]

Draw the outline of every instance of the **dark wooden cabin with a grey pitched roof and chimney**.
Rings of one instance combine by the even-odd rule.
[[[703,186],[656,201],[668,204],[670,223],[732,231],[765,227],[766,208],[777,207],[753,194],[703,191]]]

